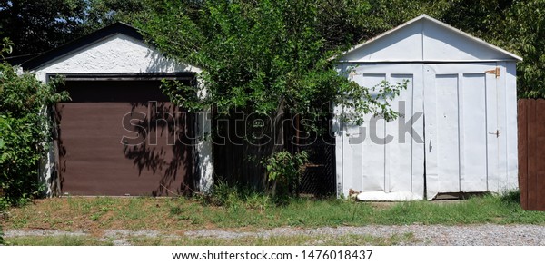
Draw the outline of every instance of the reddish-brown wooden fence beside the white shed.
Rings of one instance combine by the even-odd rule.
[[[519,100],[519,188],[524,210],[545,210],[545,100]]]

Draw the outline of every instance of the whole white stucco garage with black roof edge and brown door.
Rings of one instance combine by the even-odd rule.
[[[195,185],[200,191],[211,188],[212,145],[202,137],[210,131],[210,121],[204,119],[205,115],[183,112],[184,118],[192,116],[192,119],[183,121],[183,129],[191,129],[191,140],[194,140],[187,150],[181,151],[181,147],[175,147],[172,142],[163,145],[152,142],[136,149],[136,144],[124,141],[124,136],[146,137],[147,133],[151,134],[139,134],[135,130],[138,125],[134,125],[134,119],[124,123],[125,112],[144,111],[143,122],[144,119],[148,121],[153,117],[146,116],[150,112],[145,111],[152,107],[152,101],[154,107],[158,101],[166,105],[163,109],[169,107],[170,112],[165,114],[164,122],[169,122],[167,119],[175,115],[176,107],[171,107],[159,90],[160,80],[166,78],[192,83],[197,82],[195,75],[200,72],[194,66],[167,59],[153,46],[144,44],[142,35],[134,27],[122,23],[109,25],[41,54],[22,67],[34,72],[42,82],[64,75],[66,87],[73,93],[73,101],[57,104],[57,118],[61,112],[62,116],[57,120],[59,127],[54,135],[53,151],[42,167],[49,196],[168,195],[180,191],[179,187],[169,186],[179,181],[176,175],[182,170],[197,179]],[[127,131],[127,127],[131,129]],[[164,128],[158,130],[154,127],[154,135],[160,139],[164,137],[164,131]],[[134,151],[130,152],[132,147]],[[181,152],[185,155],[184,161],[176,161]],[[154,161],[146,160],[152,158]],[[124,162],[126,168],[123,167]],[[117,182],[116,175],[121,174],[126,174],[125,178],[133,178]],[[165,177],[167,174],[169,177]],[[159,191],[147,191],[142,184],[136,186],[138,189],[132,185],[136,181],[142,181],[144,185],[147,184],[145,182],[154,184]],[[124,186],[127,190],[122,190]],[[135,188],[133,191],[138,191],[131,193],[130,186]],[[75,193],[64,190],[68,187],[74,188]]]

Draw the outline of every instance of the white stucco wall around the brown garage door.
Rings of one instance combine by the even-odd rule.
[[[201,70],[167,59],[153,47],[133,37],[114,34],[48,62],[34,72],[38,80],[46,82],[48,73],[200,73]],[[211,132],[209,111],[204,111],[199,117],[197,132],[200,140],[196,147],[201,173],[199,183],[201,191],[210,191],[213,186],[212,143],[204,137]],[[54,161],[52,151],[42,168],[46,182],[50,181]],[[52,194],[51,186],[47,186],[46,192],[47,195]]]

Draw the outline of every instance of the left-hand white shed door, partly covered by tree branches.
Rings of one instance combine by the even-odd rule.
[[[347,124],[338,142],[343,192],[362,191],[363,200],[422,199],[422,64],[364,64],[353,69],[351,78],[364,87],[382,81],[407,81],[408,87],[391,102],[400,118],[385,122],[367,114],[362,126]]]

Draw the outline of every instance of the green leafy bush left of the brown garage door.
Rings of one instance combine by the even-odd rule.
[[[9,41],[0,48],[0,54],[9,52]],[[55,92],[59,82],[41,83],[33,73],[0,64],[0,210],[41,193],[38,162],[45,157],[52,127],[46,109],[68,98]]]

